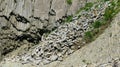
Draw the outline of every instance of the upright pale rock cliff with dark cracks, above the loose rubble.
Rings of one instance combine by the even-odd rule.
[[[87,2],[90,1],[73,0],[69,4],[67,0],[0,0],[2,53],[19,47],[23,40],[39,43],[43,34],[59,27]]]

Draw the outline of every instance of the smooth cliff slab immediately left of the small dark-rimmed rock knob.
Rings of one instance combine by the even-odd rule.
[[[42,20],[48,19],[51,0],[35,0],[34,17],[40,17]]]

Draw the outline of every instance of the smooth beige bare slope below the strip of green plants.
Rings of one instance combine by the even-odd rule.
[[[2,67],[37,67],[6,61]],[[120,13],[95,41],[77,50],[63,61],[39,67],[119,67],[120,66]]]

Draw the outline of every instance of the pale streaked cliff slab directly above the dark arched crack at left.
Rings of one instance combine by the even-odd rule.
[[[13,9],[13,12],[15,14],[24,16],[27,19],[29,19],[29,17],[32,16],[33,4],[31,0],[19,0],[16,1],[16,3],[12,2],[12,4],[16,4],[15,9]]]

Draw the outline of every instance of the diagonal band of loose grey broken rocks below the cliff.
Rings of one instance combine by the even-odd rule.
[[[99,5],[100,7],[95,7],[97,5]],[[81,45],[78,44],[78,42],[83,38],[84,32],[88,30],[91,23],[103,18],[104,11],[108,6],[109,2],[101,2],[94,4],[93,7],[91,7],[91,9],[87,11],[81,11],[79,14],[72,17],[72,21],[70,23],[64,23],[62,25],[59,25],[57,29],[52,31],[45,38],[44,36],[41,36],[41,42],[39,43],[39,45],[37,45],[35,48],[32,48],[31,51],[27,53],[24,53],[20,56],[15,56],[14,61],[21,62],[23,64],[33,63],[35,65],[44,65],[56,60],[61,61],[64,56],[70,55],[75,50],[79,49],[82,45],[84,45],[84,42],[81,43]],[[94,9],[96,9],[96,13],[94,13]],[[51,14],[54,14],[54,10],[52,10]],[[13,15],[15,15],[15,18],[18,17],[19,19],[19,15]],[[19,22],[23,23],[21,21]],[[27,25],[27,23],[29,24],[30,22],[26,21],[26,23],[24,24]],[[27,34],[30,33],[29,31],[27,32]],[[28,36],[28,41],[30,36]],[[32,37],[36,38],[34,35],[31,36],[31,38]]]

